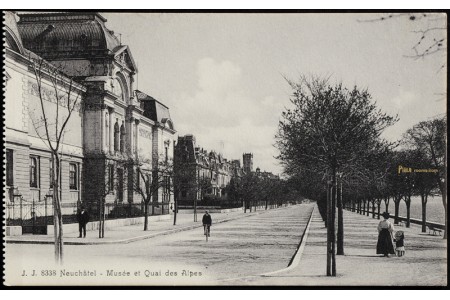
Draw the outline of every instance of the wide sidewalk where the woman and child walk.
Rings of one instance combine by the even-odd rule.
[[[391,219],[392,220],[392,219]],[[318,209],[307,230],[297,263],[272,274],[224,281],[230,285],[288,286],[446,286],[447,240],[421,233],[421,227],[396,227],[405,232],[406,255],[376,255],[379,220],[344,211],[344,252],[336,256],[336,277],[326,276],[326,228]],[[298,259],[300,258],[300,259]]]

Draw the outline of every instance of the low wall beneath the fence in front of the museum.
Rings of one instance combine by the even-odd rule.
[[[149,216],[148,221],[157,222],[161,220],[168,220],[172,217],[172,215],[158,215],[158,216]],[[115,227],[123,227],[129,225],[143,224],[144,217],[138,218],[127,218],[127,219],[114,219],[114,220],[106,220],[105,221],[105,229],[115,228]],[[53,225],[47,225],[47,235],[53,236]],[[89,222],[86,225],[86,231],[98,230],[98,221]],[[63,232],[64,233],[78,233],[78,223],[72,224],[63,224]],[[17,236],[22,235],[22,226],[6,226],[6,236]]]

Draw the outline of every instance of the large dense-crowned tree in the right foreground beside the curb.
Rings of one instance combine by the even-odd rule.
[[[327,177],[327,276],[336,276],[336,205],[338,218],[342,217],[342,199],[337,197],[338,173],[380,144],[387,144],[380,134],[397,118],[380,111],[369,92],[356,86],[350,90],[314,77],[288,82],[293,89],[294,108],[282,114],[276,136],[278,158]]]

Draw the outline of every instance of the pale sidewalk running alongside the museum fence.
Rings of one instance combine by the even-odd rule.
[[[270,210],[267,210],[270,211]],[[223,223],[239,218],[245,218],[256,214],[264,213],[265,210],[244,214],[243,211],[229,213],[211,213],[213,225]],[[197,213],[197,222],[194,222],[193,214],[178,214],[177,225],[173,225],[173,215],[170,219],[161,221],[151,221],[148,224],[148,230],[144,231],[144,224],[121,226],[105,229],[105,237],[100,239],[98,231],[87,231],[86,238],[78,238],[78,232],[67,233],[64,235],[65,245],[101,245],[101,244],[124,244],[139,240],[144,240],[160,235],[166,235],[179,231],[191,230],[202,227],[203,211]],[[151,217],[149,217],[150,219]],[[7,243],[22,244],[53,244],[53,235],[21,235],[5,237]]]

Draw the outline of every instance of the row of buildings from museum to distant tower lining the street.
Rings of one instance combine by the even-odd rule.
[[[224,194],[231,178],[252,172],[251,153],[243,155],[241,167],[239,160],[200,148],[192,135],[177,139],[169,108],[137,90],[131,50],[106,21],[93,12],[5,12],[4,167],[9,203],[40,203],[52,195],[46,130],[55,131],[69,113],[60,146],[63,212],[80,203],[95,209],[100,199],[140,203],[134,187],[138,172],[152,176],[154,166],[174,156],[194,166],[193,184],[209,179],[209,192],[217,196]],[[182,191],[180,197],[192,195]],[[159,204],[155,213],[170,213],[174,199],[169,187],[162,186],[152,198]]]

